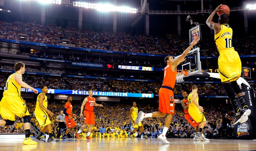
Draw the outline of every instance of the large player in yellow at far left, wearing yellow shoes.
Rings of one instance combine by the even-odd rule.
[[[25,139],[23,144],[36,145],[30,139],[30,116],[26,107],[25,100],[20,96],[20,88],[31,89],[34,93],[38,93],[37,89],[32,88],[28,84],[22,81],[22,74],[25,73],[25,64],[17,62],[14,65],[15,73],[11,74],[6,80],[5,91],[3,92],[3,98],[0,102],[0,114],[3,120],[0,120],[0,126],[13,125],[15,121],[15,115],[24,119],[23,128],[25,130]]]

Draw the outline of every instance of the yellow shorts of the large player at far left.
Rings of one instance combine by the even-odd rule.
[[[3,96],[0,102],[0,114],[4,120],[15,121],[19,117],[29,116],[26,104],[20,96]]]

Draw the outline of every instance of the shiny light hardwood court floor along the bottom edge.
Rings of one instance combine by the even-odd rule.
[[[35,139],[33,139],[35,140]],[[69,139],[60,142],[38,142],[37,145],[23,145],[23,139],[0,139],[0,151],[248,151],[256,150],[253,140],[211,139],[207,142],[192,139],[167,139],[163,144],[156,138],[122,139]]]

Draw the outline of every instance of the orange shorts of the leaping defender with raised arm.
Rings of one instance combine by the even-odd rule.
[[[174,94],[172,90],[159,89],[159,112],[174,114]]]

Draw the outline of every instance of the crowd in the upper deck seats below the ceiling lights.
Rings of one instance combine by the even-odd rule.
[[[22,23],[0,22],[0,38],[19,40],[20,25],[24,24],[25,32],[29,37],[28,42],[59,45],[64,37],[62,28],[57,25],[41,25],[36,22]],[[81,48],[112,50],[121,52],[137,52],[147,54],[179,55],[189,45],[188,38],[166,34],[164,37],[147,35],[130,35],[129,33],[95,32],[91,30],[79,30],[73,27],[64,29],[65,35],[71,44]],[[233,37],[233,47],[239,55],[251,55],[255,52],[256,37]],[[203,38],[199,42],[201,50],[206,50],[208,56],[218,56],[214,39]]]

